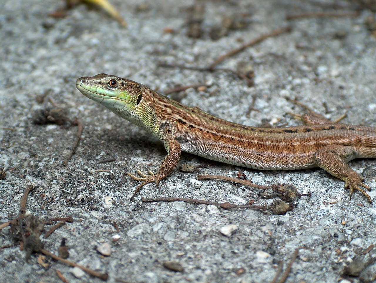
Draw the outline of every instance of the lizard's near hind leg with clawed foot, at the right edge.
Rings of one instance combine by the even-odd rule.
[[[347,162],[355,158],[356,153],[351,147],[338,144],[327,145],[316,151],[314,156],[317,166],[345,181],[345,188],[350,189],[350,198],[354,190],[356,190],[364,194],[371,203],[371,197],[363,189],[371,191],[370,187],[365,185],[363,183],[364,178],[347,164]]]

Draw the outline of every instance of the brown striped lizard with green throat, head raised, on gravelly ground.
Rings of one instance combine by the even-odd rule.
[[[361,192],[371,203],[364,178],[348,165],[355,158],[376,157],[376,128],[348,125],[308,112],[305,125],[253,127],[212,116],[198,107],[185,106],[141,83],[97,74],[80,77],[77,89],[118,116],[136,124],[164,143],[167,155],[158,171],[137,171],[141,181],[132,198],[147,183],[158,183],[179,163],[182,151],[207,159],[258,170],[294,170],[320,167]]]

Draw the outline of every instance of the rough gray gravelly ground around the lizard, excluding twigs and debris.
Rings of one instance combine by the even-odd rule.
[[[288,282],[370,282],[375,280],[376,209],[355,192],[352,199],[344,183],[321,169],[285,172],[246,170],[249,180],[259,185],[287,183],[311,197],[294,201],[293,211],[273,215],[258,210],[223,210],[215,206],[176,203],[142,203],[141,197],[203,198],[209,201],[270,204],[260,190],[219,180],[198,181],[196,173],[178,170],[160,184],[145,186],[129,201],[138,182],[124,172],[156,170],[165,150],[156,139],[138,127],[115,117],[75,88],[81,76],[116,74],[165,90],[176,85],[206,83],[205,91],[188,89],[182,103],[199,106],[230,121],[273,126],[295,125],[287,112],[303,113],[284,97],[298,97],[312,109],[335,119],[348,114],[344,122],[376,126],[376,39],[364,24],[371,11],[359,17],[307,18],[286,21],[287,14],[304,11],[348,11],[355,6],[345,1],[202,1],[206,7],[203,37],[186,35],[187,7],[194,1],[145,1],[149,9],[136,12],[136,0],[112,0],[126,19],[124,29],[100,9],[79,5],[65,18],[49,13],[62,8],[59,1],[3,0],[0,11],[0,166],[6,170],[0,180],[0,219],[18,214],[24,188],[35,189],[26,208],[40,219],[73,216],[74,222],[57,229],[44,247],[57,253],[66,238],[70,257],[100,272],[109,282],[265,282],[284,270],[293,252]],[[333,6],[337,3],[338,6]],[[245,15],[249,25],[213,41],[211,27],[228,15]],[[269,38],[226,59],[219,67],[235,69],[249,62],[255,71],[255,85],[223,71],[199,72],[158,67],[161,62],[208,66],[215,58],[241,41],[291,24],[291,33]],[[165,33],[172,28],[175,33]],[[79,117],[84,130],[76,153],[63,166],[77,127],[56,124],[35,125],[36,111],[51,107],[36,96],[48,94]],[[249,118],[252,96],[258,95]],[[326,103],[325,107],[323,103]],[[100,159],[115,162],[99,163]],[[236,177],[240,169],[183,154],[181,163],[209,166],[200,174]],[[350,166],[375,188],[376,160],[354,160]],[[111,171],[91,173],[91,169]],[[370,192],[376,197],[376,189]],[[108,200],[111,198],[110,205]],[[114,224],[115,223],[115,224]],[[229,237],[220,230],[235,230]],[[118,231],[116,229],[118,227]],[[48,230],[51,225],[46,225]],[[114,237],[120,237],[114,241]],[[108,243],[111,255],[103,257],[97,247]],[[0,279],[12,282],[59,281],[58,269],[69,282],[99,282],[87,274],[47,259],[48,268],[11,237],[9,227],[0,231]],[[163,266],[164,261],[181,263],[183,272]],[[346,266],[361,262],[367,266],[360,277],[344,275]]]

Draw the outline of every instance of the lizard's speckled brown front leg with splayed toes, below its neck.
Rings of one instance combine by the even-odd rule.
[[[164,139],[164,146],[167,151],[166,156],[162,160],[161,164],[159,165],[159,169],[157,173],[153,173],[149,171],[150,175],[145,175],[141,173],[141,171],[137,171],[137,173],[141,176],[136,177],[127,172],[127,175],[130,176],[132,179],[137,181],[143,181],[141,184],[139,184],[136,187],[135,192],[133,193],[132,197],[130,198],[132,200],[133,197],[139,192],[142,186],[148,184],[148,183],[155,183],[155,185],[158,187],[159,181],[167,177],[171,174],[171,172],[176,168],[177,164],[179,163],[181,149],[179,142],[171,137]]]

